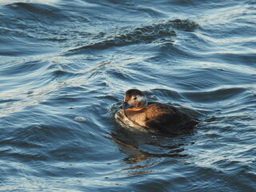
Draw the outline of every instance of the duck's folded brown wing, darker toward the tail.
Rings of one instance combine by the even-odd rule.
[[[146,127],[161,133],[184,134],[199,122],[175,106],[151,103],[146,108]]]

